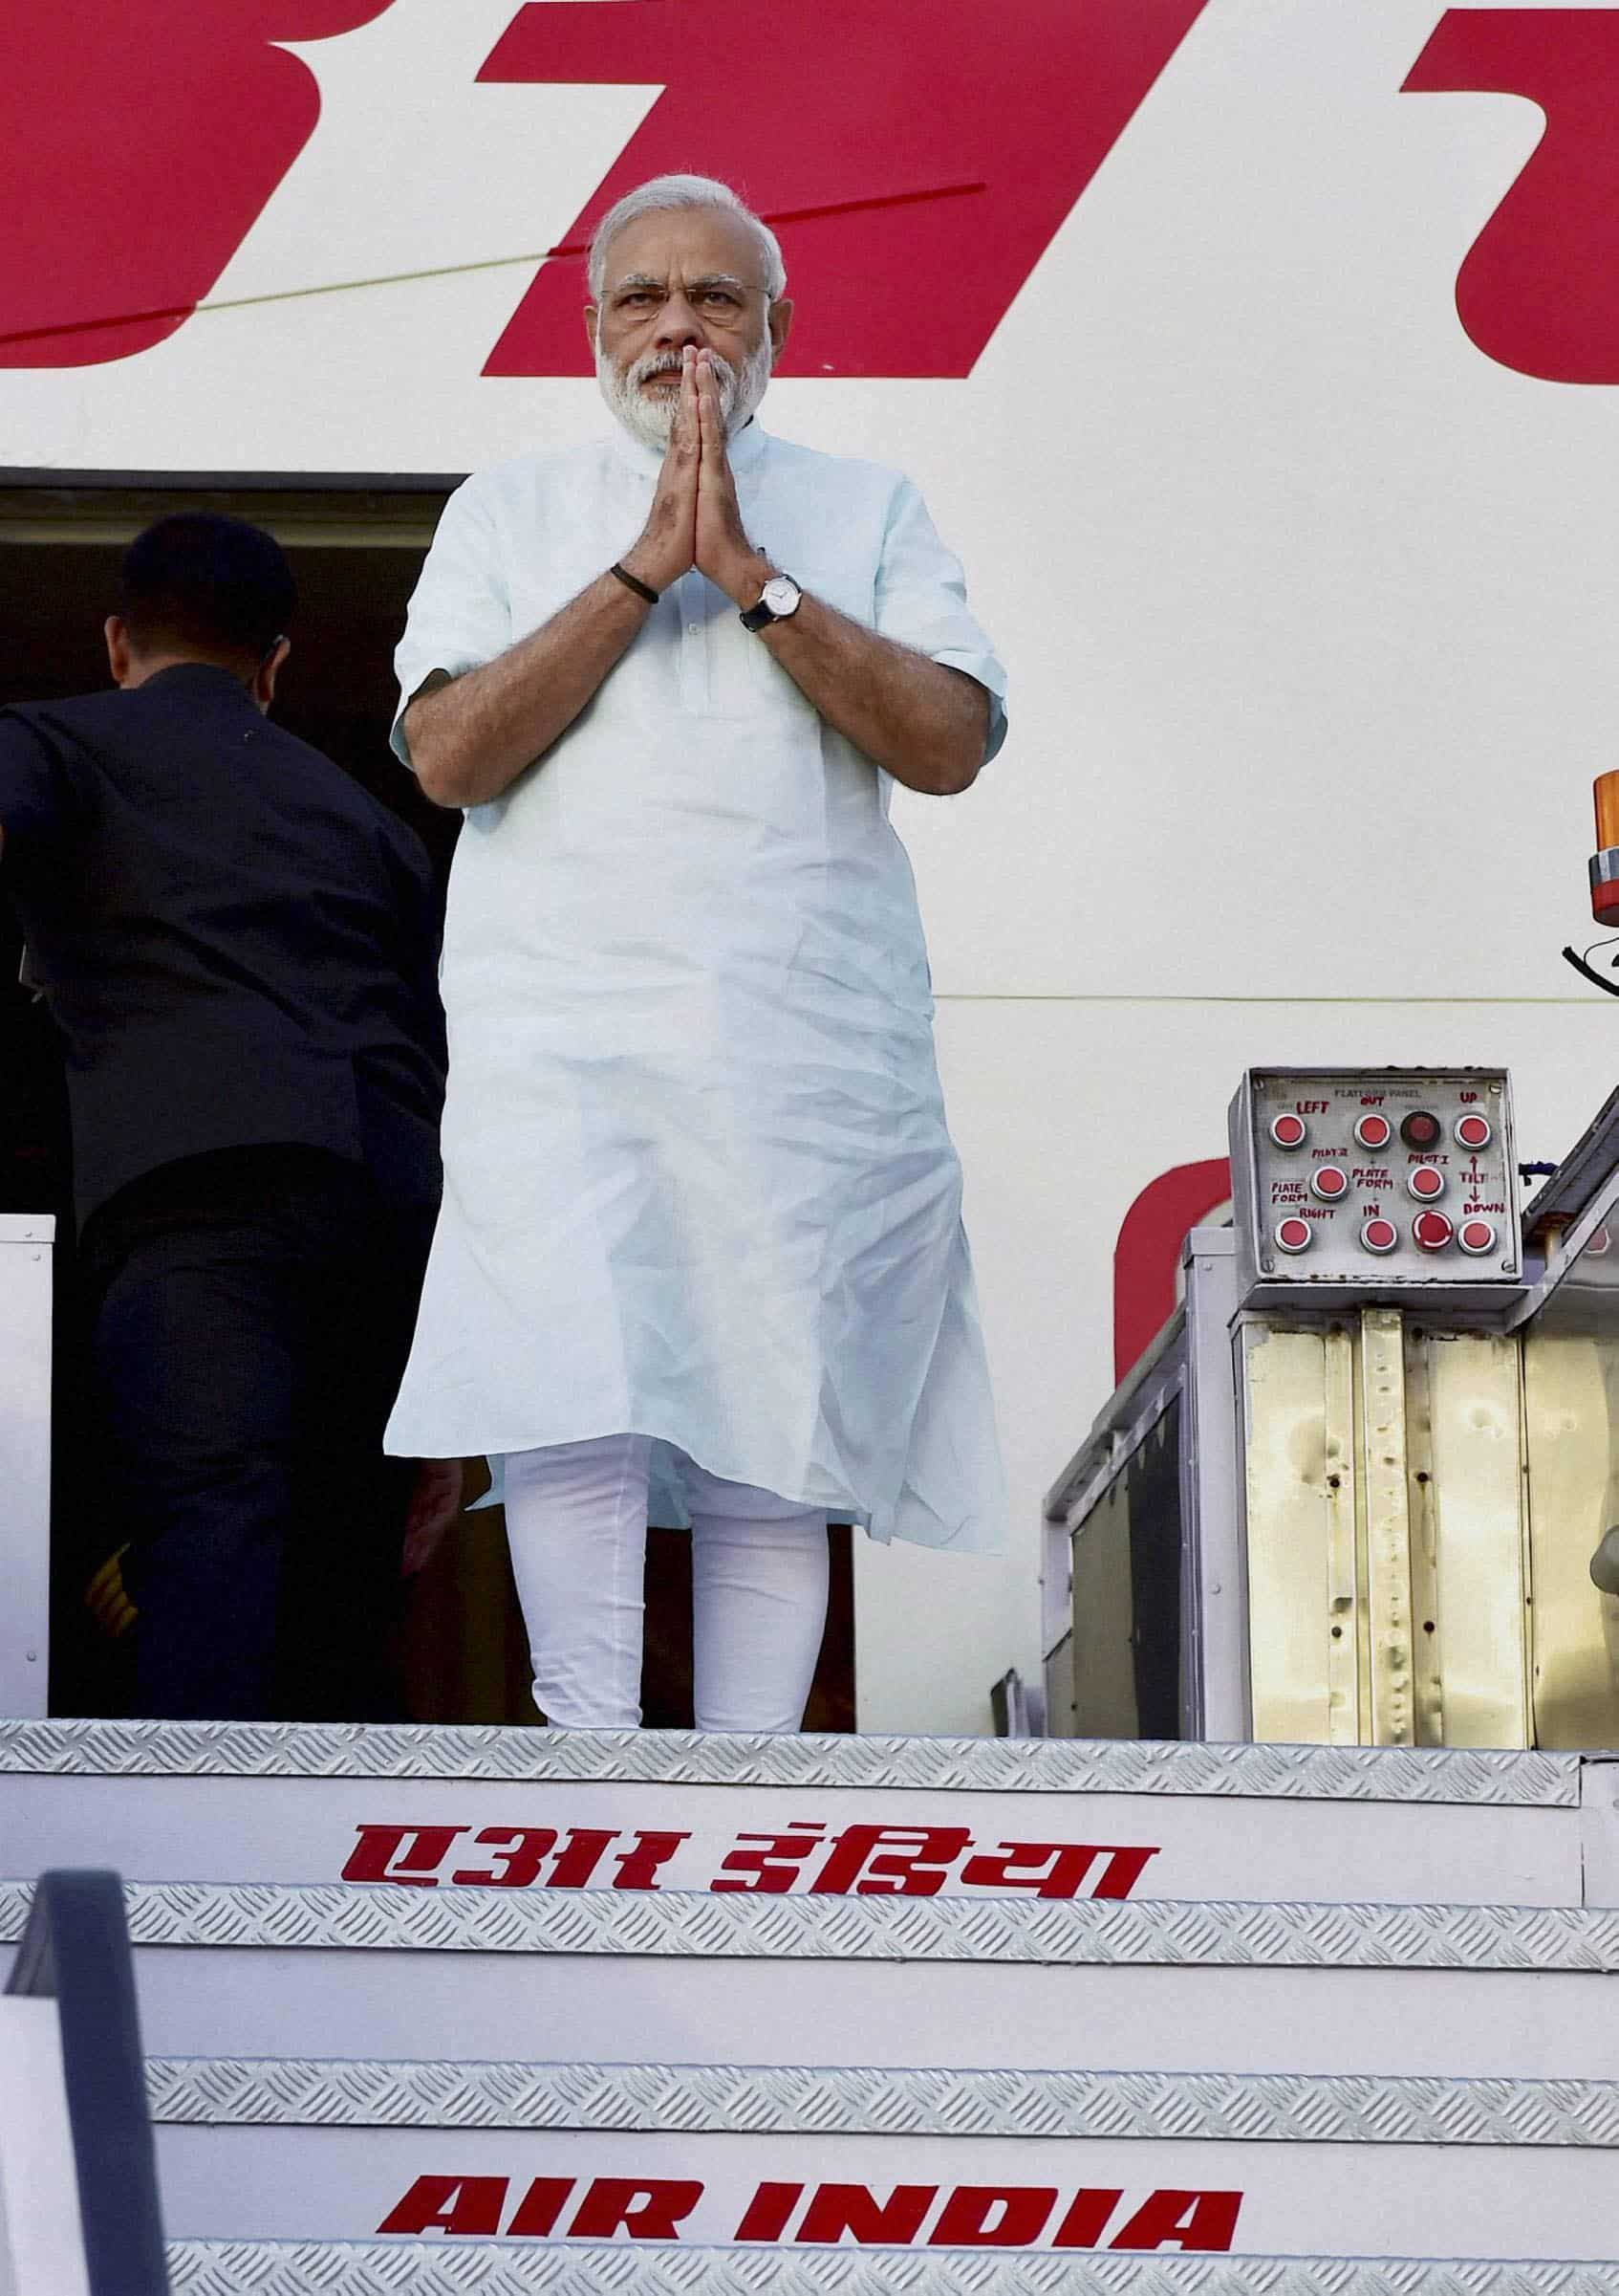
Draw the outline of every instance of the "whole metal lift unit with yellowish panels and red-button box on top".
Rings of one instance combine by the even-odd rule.
[[[1525,1212],[1502,1070],[1250,1070],[1046,1499],[1048,1731],[1619,1745],[1614,1240],[1619,1095]]]

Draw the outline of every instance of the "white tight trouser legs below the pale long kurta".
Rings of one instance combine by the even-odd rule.
[[[638,1729],[647,1435],[507,1451],[511,1575],[553,1729]],[[683,1460],[697,1729],[796,1731],[826,1628],[826,1515]]]

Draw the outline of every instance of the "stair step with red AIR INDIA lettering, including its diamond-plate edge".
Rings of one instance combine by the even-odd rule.
[[[621,2209],[695,2245],[1066,2229],[1477,2259],[1619,2236],[1614,2082],[163,2060],[151,2105],[190,2239],[571,2243]]]

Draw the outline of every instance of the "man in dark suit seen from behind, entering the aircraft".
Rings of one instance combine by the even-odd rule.
[[[291,611],[271,535],[163,519],[117,691],[0,712],[147,1715],[399,1711],[381,1433],[440,1187],[436,902],[417,838],[266,716]],[[417,1552],[452,1483],[424,1472]]]

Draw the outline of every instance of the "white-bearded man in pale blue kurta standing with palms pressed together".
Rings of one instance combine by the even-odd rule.
[[[690,1522],[699,1729],[803,1722],[826,1522],[988,1548],[1002,1483],[892,781],[1004,675],[913,484],[766,436],[782,255],[660,177],[589,253],[615,432],[449,501],[397,746],[466,808],[445,1205],[390,1424],[505,1474],[534,1699],[640,1722]]]

